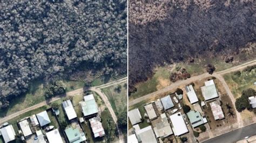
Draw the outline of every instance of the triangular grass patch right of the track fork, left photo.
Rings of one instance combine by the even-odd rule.
[[[102,91],[106,94],[107,98],[109,98],[110,104],[118,116],[122,111],[127,110],[127,86],[126,82],[119,85],[120,90],[117,91],[118,85],[113,85],[111,87],[107,87],[102,89]]]

